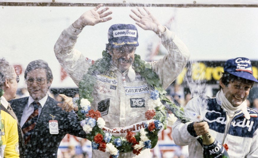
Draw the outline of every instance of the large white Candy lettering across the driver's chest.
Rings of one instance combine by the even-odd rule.
[[[214,110],[210,111],[210,110],[205,110],[205,116],[204,116],[204,120],[209,122],[209,123],[212,123],[212,122],[218,122],[222,125],[225,125],[226,124],[226,118],[225,117],[213,117],[214,119],[212,120],[212,118],[207,118],[206,116],[206,113],[217,113],[219,115],[221,115],[220,112],[216,112]],[[248,131],[250,132],[252,127],[253,127],[253,124],[254,124],[254,121],[249,121],[249,120],[246,120],[246,118],[244,118],[243,121],[239,121],[239,122],[236,122],[235,120],[231,122],[231,125],[234,126],[234,127],[242,127],[242,128],[248,128]]]

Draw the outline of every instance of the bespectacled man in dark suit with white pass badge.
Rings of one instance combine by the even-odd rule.
[[[65,112],[48,96],[53,75],[47,62],[30,62],[24,78],[30,96],[14,99],[11,104],[22,126],[26,157],[57,157],[59,144],[68,133],[86,138],[74,111]]]

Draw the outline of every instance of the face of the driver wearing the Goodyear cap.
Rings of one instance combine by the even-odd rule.
[[[120,48],[109,50],[113,65],[115,65],[121,72],[129,69],[134,62],[135,49],[135,46],[121,46]]]

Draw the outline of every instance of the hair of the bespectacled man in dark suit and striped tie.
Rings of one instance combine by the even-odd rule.
[[[24,72],[24,78],[27,78],[27,73],[31,72],[35,69],[45,69],[46,70],[46,74],[47,74],[47,80],[48,82],[50,80],[53,80],[53,74],[52,71],[50,69],[50,67],[48,66],[48,63],[45,62],[44,60],[34,60],[32,62],[30,62],[28,64],[28,66],[26,67],[26,70]]]

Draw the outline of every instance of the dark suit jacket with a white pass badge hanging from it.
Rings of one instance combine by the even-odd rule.
[[[28,98],[24,97],[10,101],[19,122],[21,122],[22,112],[28,103]],[[86,133],[74,111],[65,112],[57,106],[57,103],[59,102],[48,96],[30,141],[26,144],[25,156],[27,158],[57,157],[59,144],[67,133],[86,138]],[[51,115],[55,116],[54,120],[58,121],[59,134],[50,134],[49,120],[53,120]]]

